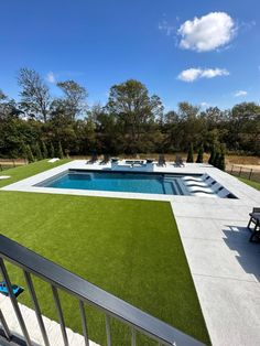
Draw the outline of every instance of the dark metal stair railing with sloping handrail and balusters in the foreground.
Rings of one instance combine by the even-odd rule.
[[[133,305],[124,302],[123,300],[101,290],[100,288],[91,284],[83,278],[69,272],[68,270],[57,266],[56,263],[39,256],[37,253],[26,249],[20,244],[0,235],[0,271],[7,283],[9,296],[12,302],[13,310],[19,321],[23,337],[28,346],[32,345],[28,328],[25,326],[22,313],[20,311],[17,298],[14,296],[11,288],[11,282],[7,271],[4,261],[9,261],[14,266],[21,268],[24,272],[28,290],[34,306],[37,323],[42,333],[45,346],[50,346],[46,328],[43,323],[41,309],[39,305],[37,296],[33,286],[31,275],[36,275],[50,283],[52,286],[54,304],[58,315],[58,322],[62,329],[64,345],[68,345],[65,322],[59,302],[58,290],[64,290],[78,299],[79,312],[83,325],[83,335],[85,337],[86,346],[89,345],[87,321],[84,310],[84,304],[90,304],[102,311],[106,315],[106,335],[107,345],[112,345],[110,321],[111,318],[123,322],[131,328],[131,345],[137,344],[137,332],[151,337],[156,340],[159,345],[202,345],[193,337],[180,332],[178,329],[170,326],[169,324],[142,312]],[[4,327],[7,338],[11,337],[11,332],[6,323],[4,316],[0,311],[0,322]]]

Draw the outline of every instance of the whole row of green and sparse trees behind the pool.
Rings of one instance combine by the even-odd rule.
[[[0,156],[174,153],[225,150],[260,155],[260,106],[231,109],[187,101],[165,112],[145,85],[129,79],[110,88],[107,104],[88,107],[88,93],[75,80],[57,83],[53,97],[44,78],[21,68],[19,99],[0,90]]]

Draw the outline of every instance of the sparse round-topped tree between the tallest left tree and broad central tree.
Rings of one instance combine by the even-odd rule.
[[[64,98],[56,100],[56,108],[59,108],[72,120],[86,109],[87,90],[74,80],[58,82],[57,86],[64,93]]]

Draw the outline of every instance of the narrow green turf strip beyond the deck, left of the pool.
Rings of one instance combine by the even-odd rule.
[[[42,160],[34,163],[30,163],[28,165],[22,165],[20,167],[4,170],[0,172],[0,175],[10,175],[10,179],[0,180],[0,187],[15,183],[18,181],[21,181],[22,179],[35,175],[43,171],[54,169],[68,161],[71,160],[64,159],[64,160],[56,161],[54,163],[50,163],[47,162],[47,160]]]

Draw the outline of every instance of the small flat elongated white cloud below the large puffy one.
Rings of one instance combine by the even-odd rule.
[[[188,68],[177,76],[183,82],[194,82],[198,78],[214,78],[217,76],[228,76],[229,72],[225,68]]]

